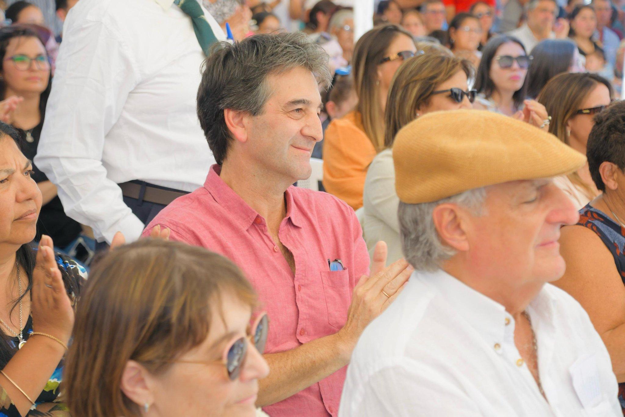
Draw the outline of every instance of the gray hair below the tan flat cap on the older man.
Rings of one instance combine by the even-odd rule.
[[[401,233],[404,258],[417,271],[436,271],[446,259],[456,251],[441,242],[432,213],[434,208],[443,203],[454,203],[471,209],[476,216],[484,214],[486,188],[470,189],[464,193],[447,197],[433,203],[406,204],[399,203],[397,216]]]

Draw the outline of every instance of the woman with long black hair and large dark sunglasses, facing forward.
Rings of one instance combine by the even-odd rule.
[[[474,108],[513,116],[548,129],[549,116],[542,104],[526,100],[526,74],[531,57],[519,39],[496,36],[484,47],[477,68]]]

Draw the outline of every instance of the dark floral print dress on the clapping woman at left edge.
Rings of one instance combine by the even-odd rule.
[[[80,288],[84,282],[84,279],[87,278],[87,271],[79,266],[73,259],[68,258],[65,255],[57,254],[56,263],[59,265],[59,269],[61,270],[61,274],[63,275],[64,281],[71,279],[77,284],[77,288]],[[77,294],[70,293],[70,298],[76,300]],[[26,322],[26,326],[22,330],[22,337],[24,340],[28,340],[30,334],[32,333],[32,316],[28,316],[28,320]],[[17,338],[10,338],[9,344],[11,344],[11,348],[17,351]],[[26,414],[29,417],[70,417],[71,414],[68,411],[68,408],[64,403],[58,401],[59,395],[61,394],[61,390],[63,389],[61,374],[63,373],[63,364],[64,359],[61,359],[61,362],[54,369],[53,374],[47,381],[46,386],[44,387],[41,394],[35,400],[34,405]],[[0,417],[21,417],[19,411],[17,411],[16,406],[13,404],[12,399],[9,395],[4,391],[4,388],[0,386]]]

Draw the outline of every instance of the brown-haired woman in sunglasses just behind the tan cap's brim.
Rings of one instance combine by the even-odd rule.
[[[612,86],[596,74],[559,74],[542,89],[537,101],[551,114],[549,133],[571,148],[586,154],[588,134],[594,126],[594,116],[611,102]],[[556,178],[556,184],[576,205],[586,206],[599,195],[588,164],[568,176]]]

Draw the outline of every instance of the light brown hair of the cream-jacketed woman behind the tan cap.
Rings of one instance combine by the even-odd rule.
[[[417,118],[417,109],[427,104],[436,86],[458,71],[466,74],[469,83],[475,76],[469,61],[441,52],[415,56],[399,67],[392,79],[384,112],[384,148],[391,148],[399,129]]]

